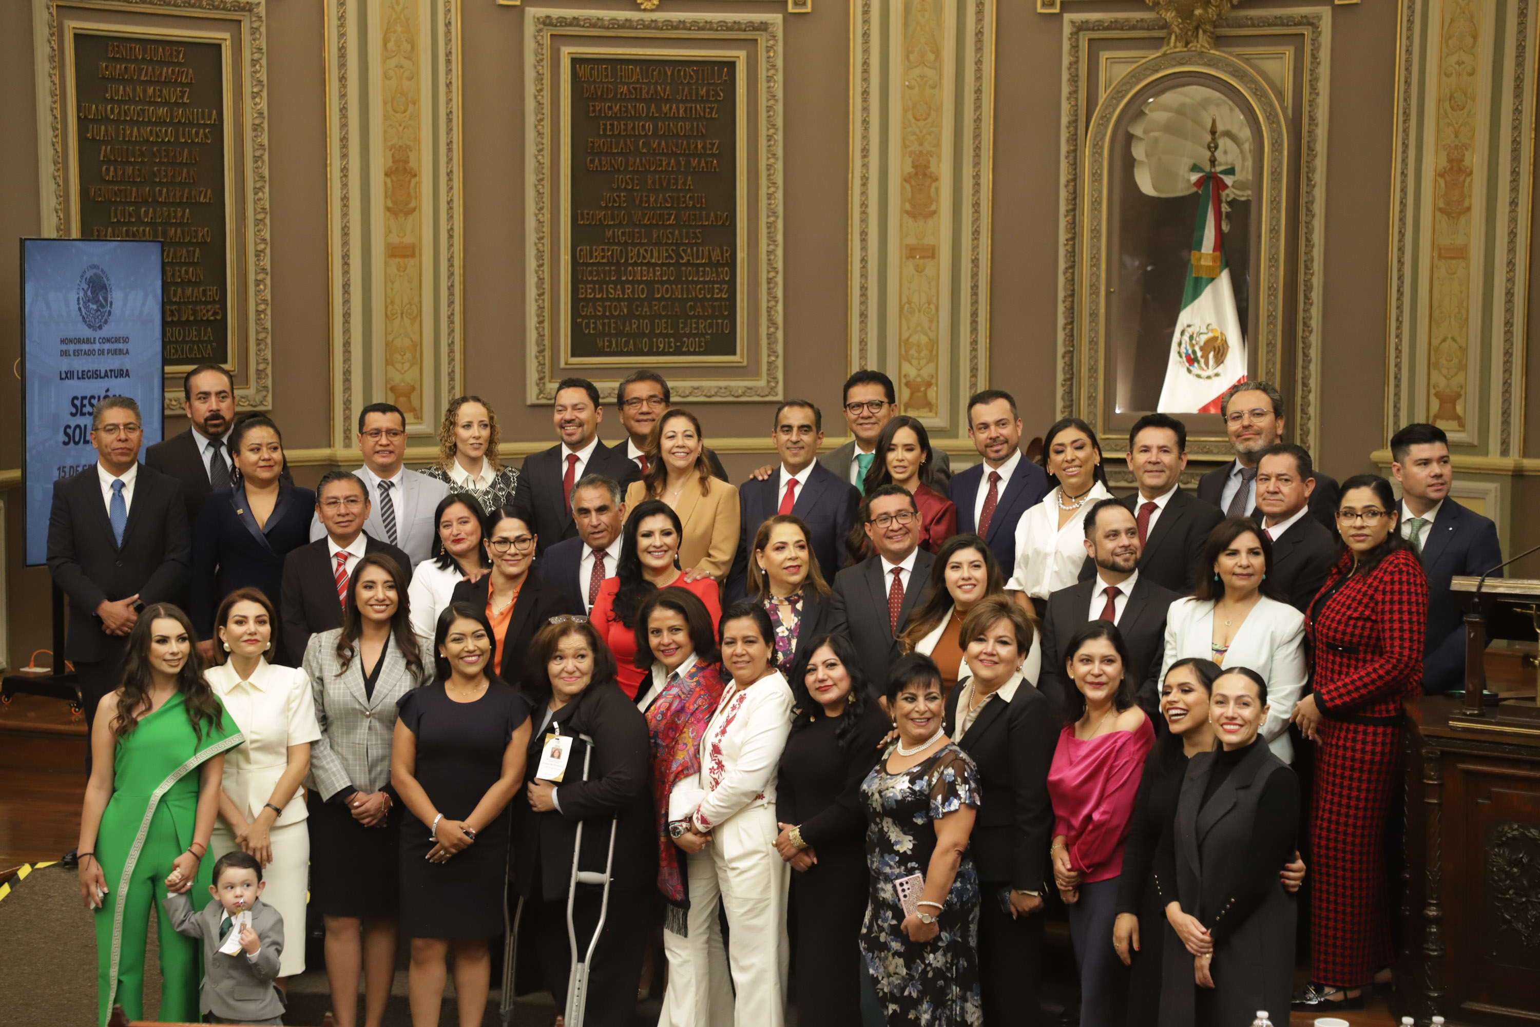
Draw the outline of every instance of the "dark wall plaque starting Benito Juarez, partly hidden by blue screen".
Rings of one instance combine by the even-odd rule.
[[[225,43],[71,32],[82,239],[165,243],[165,363],[229,365]]]

